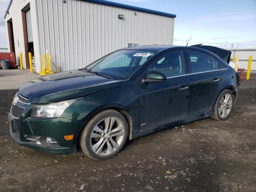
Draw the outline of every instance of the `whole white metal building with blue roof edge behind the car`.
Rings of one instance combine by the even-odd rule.
[[[127,46],[173,44],[176,15],[105,0],[11,0],[4,16],[8,49],[36,72],[48,51],[61,71],[82,68]]]

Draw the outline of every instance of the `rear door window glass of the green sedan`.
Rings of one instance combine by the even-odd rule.
[[[212,70],[212,63],[208,54],[198,51],[188,51],[192,73],[206,72]]]

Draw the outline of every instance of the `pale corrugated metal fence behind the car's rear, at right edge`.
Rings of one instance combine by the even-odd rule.
[[[256,48],[238,48],[238,49],[230,49],[231,58],[238,56],[239,58],[239,66],[240,68],[244,68],[247,70],[249,56],[252,56],[252,66],[251,70],[256,71]]]

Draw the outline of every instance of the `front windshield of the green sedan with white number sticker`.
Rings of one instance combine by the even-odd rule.
[[[113,79],[127,79],[155,53],[140,50],[118,50],[102,57],[85,68],[92,72]]]

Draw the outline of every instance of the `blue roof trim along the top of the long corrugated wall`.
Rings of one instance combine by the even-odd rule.
[[[174,14],[150,10],[150,9],[144,9],[140,7],[125,5],[125,4],[111,2],[111,1],[105,1],[105,0],[84,0],[84,1],[176,18],[176,15]]]

